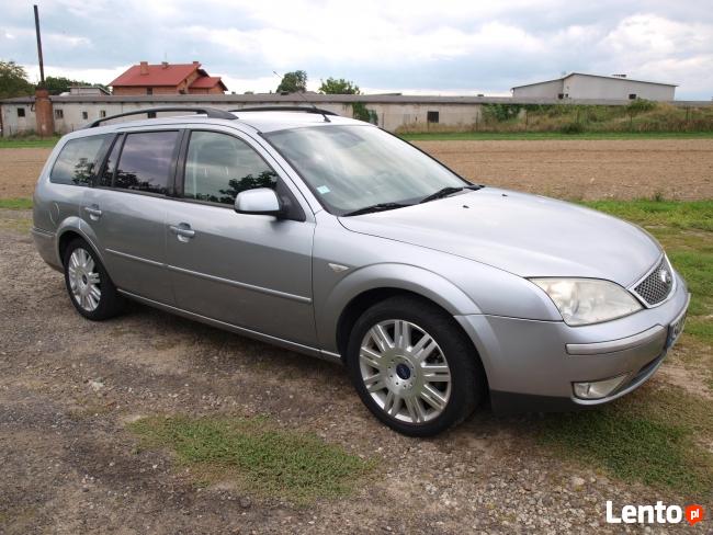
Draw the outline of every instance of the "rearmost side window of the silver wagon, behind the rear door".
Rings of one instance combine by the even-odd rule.
[[[71,139],[63,147],[49,173],[56,184],[89,185],[97,160],[109,135]]]

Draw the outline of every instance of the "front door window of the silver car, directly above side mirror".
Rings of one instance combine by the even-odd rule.
[[[278,174],[248,144],[227,134],[191,133],[183,196],[233,205],[245,190],[278,185]]]

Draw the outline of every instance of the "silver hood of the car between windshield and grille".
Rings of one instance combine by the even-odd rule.
[[[630,286],[661,254],[650,236],[621,219],[495,187],[339,219],[354,232],[456,254],[525,277],[595,277]]]

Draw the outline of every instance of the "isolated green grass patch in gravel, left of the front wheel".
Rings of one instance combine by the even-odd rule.
[[[205,482],[231,479],[298,504],[349,494],[373,463],[265,418],[146,418],[129,424],[143,447],[168,448]]]

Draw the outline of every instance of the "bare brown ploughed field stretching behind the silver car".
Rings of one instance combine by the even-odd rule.
[[[713,197],[713,139],[417,145],[475,182],[556,197]],[[49,151],[0,149],[0,197],[32,195]]]

